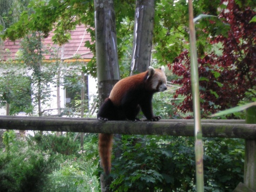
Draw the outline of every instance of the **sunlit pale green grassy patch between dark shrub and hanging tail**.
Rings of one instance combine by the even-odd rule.
[[[84,151],[62,155],[58,161],[59,167],[49,175],[49,182],[43,191],[99,191],[97,177],[93,175],[99,160],[97,141],[97,134],[86,134]]]

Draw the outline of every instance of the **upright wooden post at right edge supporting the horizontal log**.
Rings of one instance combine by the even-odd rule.
[[[256,106],[246,110],[246,123],[256,124]],[[245,140],[244,184],[256,191],[256,138]]]

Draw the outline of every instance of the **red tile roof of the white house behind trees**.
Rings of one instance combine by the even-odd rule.
[[[54,59],[54,57],[56,58],[56,51],[54,54],[53,50],[58,50],[58,58],[61,59],[61,49],[63,49],[62,59],[70,58],[76,54],[81,55],[80,58],[86,59],[87,61],[89,61],[93,57],[93,54],[90,53],[90,49],[84,47],[84,43],[87,40],[91,41],[90,34],[86,31],[86,27],[84,25],[77,26],[76,29],[74,31],[71,31],[70,33],[71,39],[69,40],[69,42],[59,47],[58,45],[53,44],[53,32],[50,32],[49,36],[42,41],[45,47],[47,47],[47,49],[49,50],[48,54],[44,54],[46,60]],[[16,40],[15,42],[13,42],[10,40],[6,40],[4,42],[4,46],[2,46],[1,48],[2,50],[0,50],[0,54],[2,55],[2,58],[0,57],[0,59],[7,60],[11,56],[11,58],[15,60],[15,54],[20,48],[20,41],[21,40]],[[6,49],[8,49],[10,53],[8,53]]]

